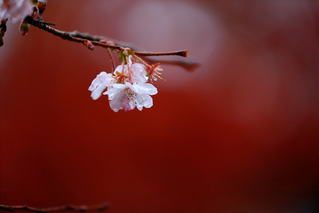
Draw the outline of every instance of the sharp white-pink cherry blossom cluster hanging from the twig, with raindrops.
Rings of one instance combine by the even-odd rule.
[[[157,77],[162,79],[159,76],[162,69],[159,64],[147,65],[129,48],[122,50],[119,55],[122,64],[113,73],[101,72],[92,81],[89,87],[91,97],[96,100],[106,90],[103,95],[108,95],[110,107],[115,112],[121,109],[130,111],[135,106],[138,110],[150,108],[153,105],[150,95],[157,94],[157,88],[147,81],[156,81]]]

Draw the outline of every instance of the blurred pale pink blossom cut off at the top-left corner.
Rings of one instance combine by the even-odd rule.
[[[0,3],[0,19],[10,19],[12,22],[23,20],[33,11],[30,0],[4,0]]]

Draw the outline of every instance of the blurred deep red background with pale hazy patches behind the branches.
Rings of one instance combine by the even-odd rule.
[[[319,211],[317,1],[49,0],[43,18],[147,51],[188,49],[202,66],[162,65],[154,105],[115,113],[87,90],[110,72],[104,49],[9,23],[1,204]]]

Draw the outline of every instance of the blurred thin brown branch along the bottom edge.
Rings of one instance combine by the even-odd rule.
[[[96,206],[74,206],[74,205],[67,205],[67,206],[56,206],[46,209],[37,209],[28,206],[5,206],[0,204],[0,209],[5,211],[14,211],[14,210],[26,210],[32,211],[36,213],[46,213],[52,211],[63,211],[63,210],[75,210],[75,211],[103,211],[109,208],[109,204],[104,203]]]

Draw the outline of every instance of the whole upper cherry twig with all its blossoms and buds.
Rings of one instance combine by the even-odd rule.
[[[30,25],[33,25],[63,39],[82,43],[90,50],[93,50],[94,46],[105,48],[111,59],[112,72],[98,74],[89,90],[92,91],[93,100],[98,99],[102,94],[108,95],[110,107],[115,112],[121,109],[130,111],[135,107],[142,110],[143,107],[150,108],[153,105],[150,95],[157,94],[157,89],[147,82],[150,80],[153,83],[158,78],[162,79],[160,77],[162,69],[159,63],[151,66],[138,56],[179,55],[187,57],[188,55],[187,50],[164,53],[133,51],[112,41],[107,41],[102,36],[91,36],[77,31],[59,31],[48,26],[55,25],[54,23],[43,21],[42,13],[46,6],[47,0],[0,0],[0,47],[4,44],[3,36],[6,31],[6,22],[19,20],[21,21],[19,31],[22,35],[26,35]],[[118,54],[121,65],[115,67],[111,50]]]

